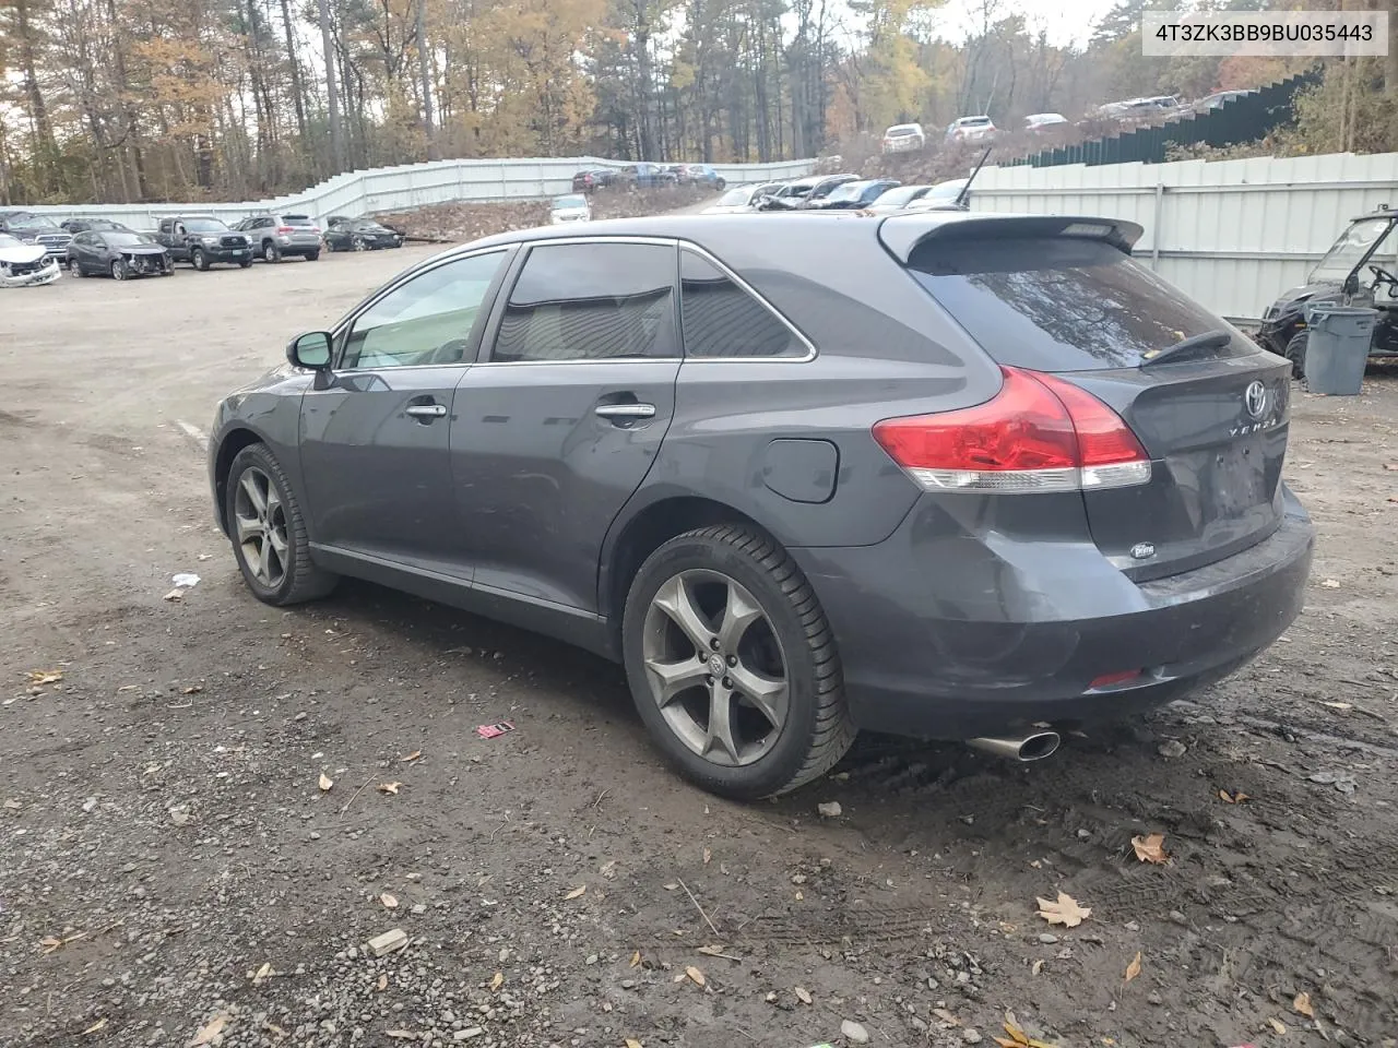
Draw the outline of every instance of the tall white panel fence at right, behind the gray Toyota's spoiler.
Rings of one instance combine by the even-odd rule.
[[[976,211],[1138,222],[1137,257],[1230,320],[1304,284],[1345,224],[1380,204],[1398,208],[1398,154],[986,168],[972,193]]]

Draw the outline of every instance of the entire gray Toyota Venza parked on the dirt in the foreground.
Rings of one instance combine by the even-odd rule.
[[[424,261],[218,409],[253,594],[352,576],[625,667],[735,798],[858,729],[1046,756],[1236,671],[1302,606],[1286,361],[1141,228],[661,217]]]

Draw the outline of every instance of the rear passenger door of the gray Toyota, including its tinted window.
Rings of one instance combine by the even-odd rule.
[[[457,391],[453,474],[475,585],[597,609],[597,559],[675,405],[677,249],[541,243]]]

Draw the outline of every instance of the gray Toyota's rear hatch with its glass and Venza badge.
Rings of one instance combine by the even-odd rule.
[[[1286,361],[1134,261],[1120,226],[1110,243],[1092,236],[1102,224],[1057,219],[1046,235],[1046,222],[972,219],[916,243],[906,264],[997,363],[1055,374],[1135,433],[1149,481],[1082,493],[1121,570],[1144,581],[1261,542],[1282,521]]]

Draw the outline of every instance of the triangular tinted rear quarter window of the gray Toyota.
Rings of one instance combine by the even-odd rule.
[[[685,356],[805,356],[790,327],[693,252],[679,256],[679,312]]]

